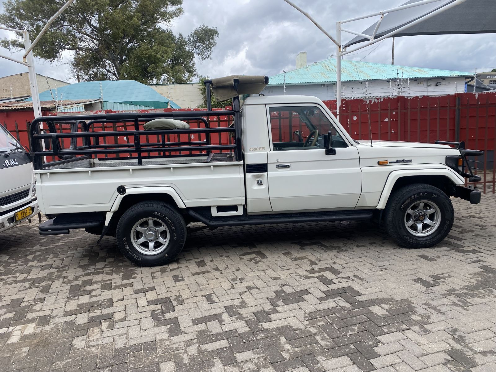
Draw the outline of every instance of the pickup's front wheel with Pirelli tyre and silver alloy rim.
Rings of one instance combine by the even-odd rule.
[[[439,188],[413,184],[389,196],[385,218],[387,232],[400,246],[428,248],[448,235],[454,211],[451,200]]]

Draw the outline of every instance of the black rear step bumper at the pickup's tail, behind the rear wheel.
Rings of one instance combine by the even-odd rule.
[[[66,213],[45,221],[38,226],[40,235],[62,235],[69,234],[70,229],[86,229],[99,227],[104,224],[102,213]]]

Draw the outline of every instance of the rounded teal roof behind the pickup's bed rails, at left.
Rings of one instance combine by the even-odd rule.
[[[102,92],[100,92],[100,84]],[[167,107],[169,99],[162,96],[148,85],[141,84],[134,80],[102,80],[83,81],[65,85],[57,88],[57,96],[64,100],[80,100],[102,98],[104,102],[127,103],[129,105],[149,106],[155,109]],[[40,93],[40,101],[53,101],[52,94],[56,95],[55,89],[46,90]],[[26,101],[31,101],[28,98]],[[180,109],[177,104],[171,101],[173,109]]]

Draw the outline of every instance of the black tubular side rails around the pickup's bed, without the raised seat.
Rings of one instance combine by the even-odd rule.
[[[238,106],[239,107],[239,106]],[[178,115],[179,114],[179,115]],[[126,159],[137,159],[138,165],[142,165],[143,158],[155,156],[144,156],[146,153],[164,153],[160,157],[186,157],[186,156],[201,156],[198,154],[183,154],[166,155],[165,152],[182,152],[182,151],[206,151],[209,155],[212,150],[230,150],[234,151],[236,161],[242,160],[241,154],[241,140],[240,146],[234,145],[211,145],[209,135],[212,133],[235,133],[235,137],[241,136],[240,130],[236,129],[235,110],[225,111],[192,111],[192,112],[165,112],[165,113],[119,113],[119,114],[104,114],[104,115],[82,115],[82,116],[54,116],[54,117],[41,117],[33,120],[30,124],[30,155],[33,159],[33,166],[35,170],[43,169],[46,167],[53,167],[55,165],[66,164],[72,160],[81,160],[86,157],[94,157],[98,154],[137,154],[137,156],[129,156]],[[208,127],[207,120],[204,117],[212,116],[234,116],[234,127]],[[139,127],[140,123],[151,121],[157,118],[174,118],[185,121],[200,121],[205,124],[206,128],[187,128],[187,129],[153,129],[142,130]],[[88,124],[86,121],[90,121]],[[58,123],[71,124],[70,132],[58,132],[56,125]],[[111,122],[126,122],[133,123],[132,130],[112,130],[112,131],[90,131],[91,124],[95,123],[111,123]],[[46,123],[48,132],[40,129],[40,123]],[[81,131],[76,131],[78,123]],[[179,134],[204,134],[205,141],[166,141],[166,135],[179,135]],[[157,135],[160,136],[162,141],[156,142],[143,142],[141,136]],[[102,139],[106,137],[126,136],[129,138],[129,143],[104,143]],[[61,140],[64,138],[70,139],[70,146],[63,148]],[[91,143],[93,138],[94,143]],[[82,145],[76,146],[77,140],[82,140]],[[240,138],[241,139],[241,138]],[[42,147],[42,141],[45,143],[45,149]],[[48,141],[48,143],[47,143]],[[237,141],[238,142],[238,141]],[[49,146],[47,146],[49,144]],[[50,148],[49,148],[50,147]],[[49,149],[47,149],[49,148]],[[76,157],[79,155],[78,157]],[[44,162],[43,158],[46,156],[58,157],[60,160],[52,162]],[[86,156],[86,157],[82,157]]]

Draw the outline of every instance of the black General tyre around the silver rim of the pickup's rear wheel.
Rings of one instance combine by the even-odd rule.
[[[143,254],[131,241],[134,224],[148,217],[162,221],[170,232],[166,248],[152,255]],[[116,239],[119,250],[129,261],[139,266],[160,266],[176,260],[185,245],[186,231],[185,220],[175,208],[159,200],[150,200],[134,204],[124,212],[117,224]]]

